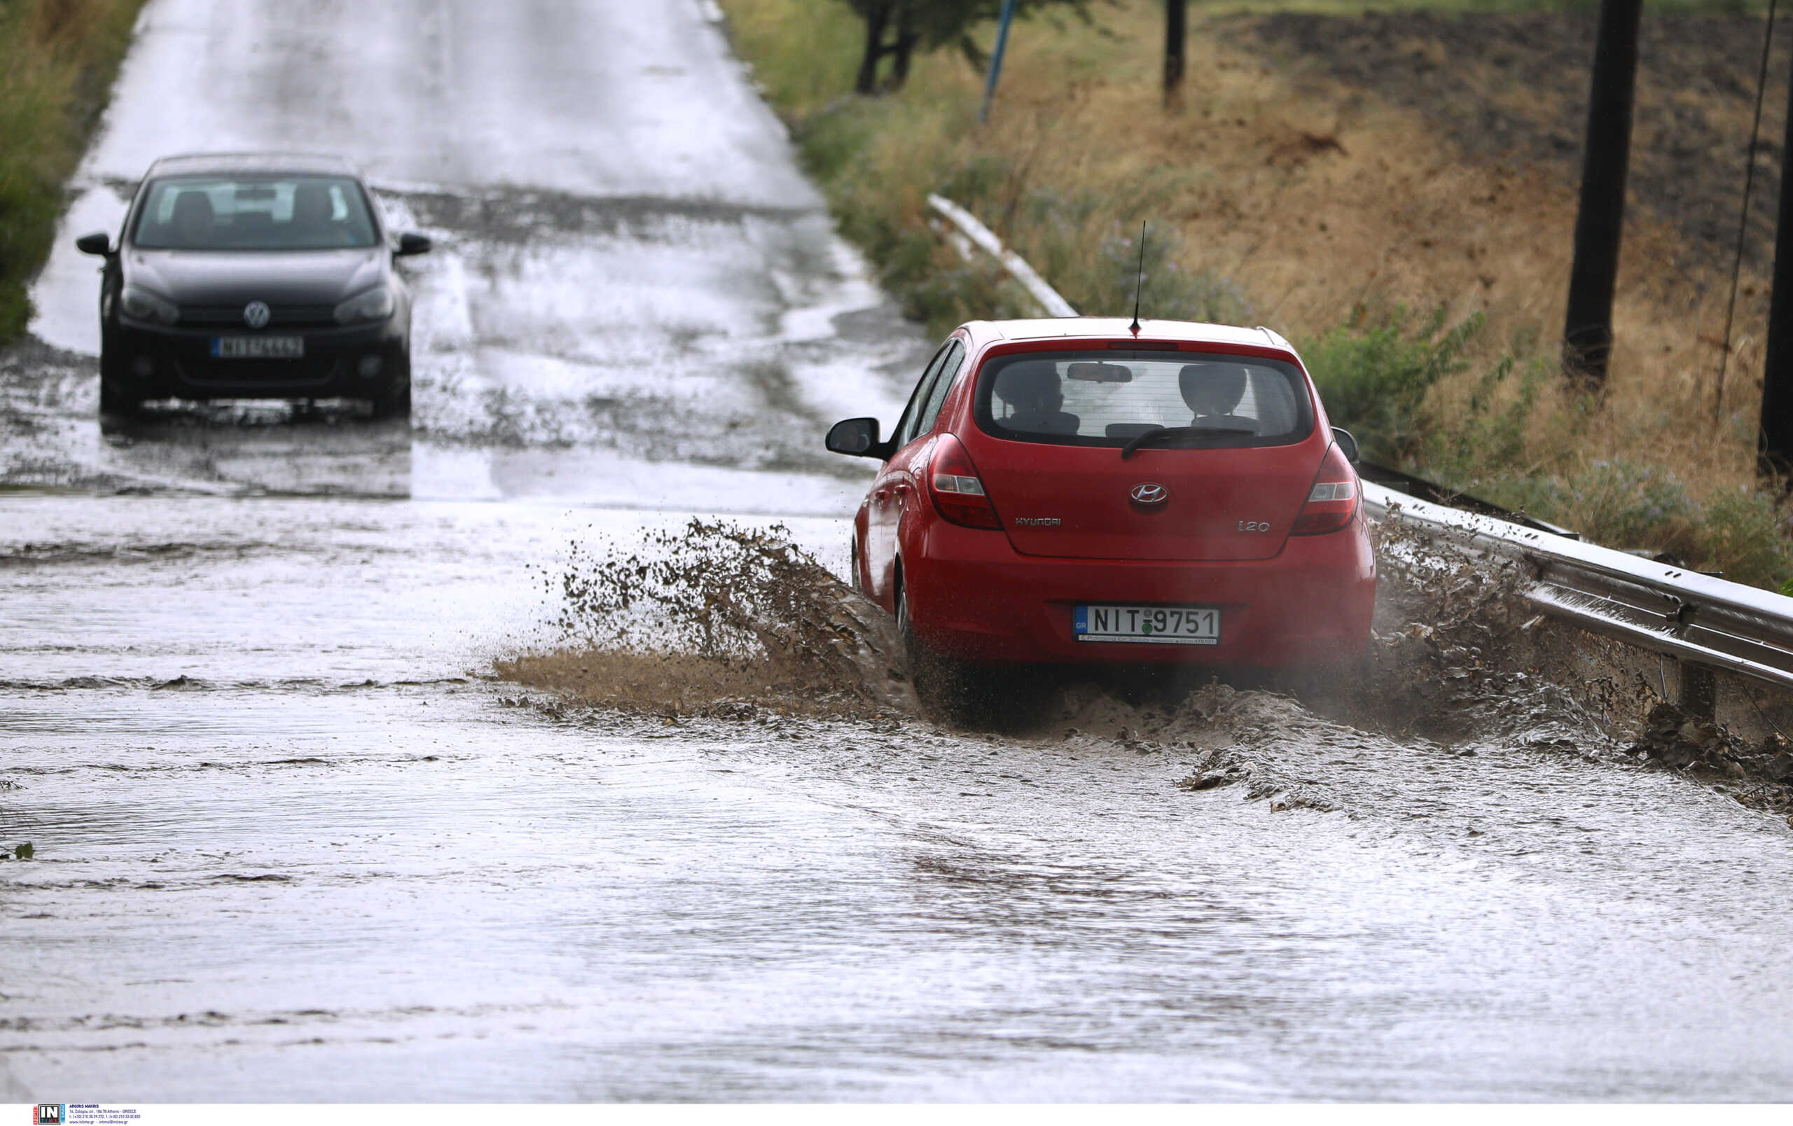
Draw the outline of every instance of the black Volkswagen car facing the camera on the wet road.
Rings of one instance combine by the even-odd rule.
[[[411,411],[411,290],[430,249],[393,235],[330,156],[158,160],[126,213],[75,246],[106,258],[100,412],[152,398],[362,398]]]

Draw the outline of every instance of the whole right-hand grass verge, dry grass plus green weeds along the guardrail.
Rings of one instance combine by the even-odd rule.
[[[1682,231],[1633,210],[1608,387],[1576,394],[1556,377],[1572,160],[1465,152],[1415,108],[1425,97],[1413,82],[1449,70],[1451,99],[1468,99],[1454,111],[1563,115],[1562,99],[1528,109],[1499,66],[1465,61],[1474,29],[1416,43],[1420,77],[1381,99],[1330,77],[1325,59],[1268,50],[1255,20],[1287,5],[1208,14],[1191,34],[1183,97],[1165,108],[1162,7],[1113,0],[1094,9],[1096,27],[1018,22],[995,111],[979,124],[981,75],[956,52],[920,57],[896,93],[853,97],[861,29],[846,4],[723,7],[843,235],[932,330],[1033,310],[990,264],[932,235],[929,192],[977,213],[1085,312],[1131,305],[1133,238],[1149,221],[1146,312],[1278,328],[1302,346],[1334,421],[1361,429],[1379,459],[1612,547],[1763,586],[1793,579],[1786,511],[1754,468],[1755,326],[1739,333],[1732,389],[1712,405],[1709,337],[1728,278],[1702,267]],[[1644,117],[1650,99],[1737,117],[1728,88],[1639,97]],[[1745,274],[1745,292],[1764,290]]]

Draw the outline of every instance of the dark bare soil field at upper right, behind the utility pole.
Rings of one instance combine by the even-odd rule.
[[[1278,13],[1250,29],[1298,75],[1422,113],[1470,161],[1533,165],[1578,183],[1592,14]],[[1739,16],[1642,23],[1630,204],[1680,233],[1684,265],[1730,269],[1764,30]],[[1755,156],[1745,260],[1757,271],[1773,260],[1789,48],[1793,20],[1775,30]]]

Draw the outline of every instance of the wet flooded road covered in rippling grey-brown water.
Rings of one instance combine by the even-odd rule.
[[[839,567],[821,427],[927,359],[696,4],[531,7],[147,9],[66,235],[280,143],[437,253],[409,429],[102,434],[74,256],[0,360],[5,1099],[1793,1097],[1793,832],[1544,696],[986,735],[491,680],[576,541]]]

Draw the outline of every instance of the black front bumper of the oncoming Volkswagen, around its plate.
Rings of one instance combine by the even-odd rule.
[[[299,335],[298,360],[221,360],[212,341],[247,335],[222,328],[106,326],[104,373],[133,398],[368,398],[409,378],[409,332],[402,316],[350,328],[265,330]]]

